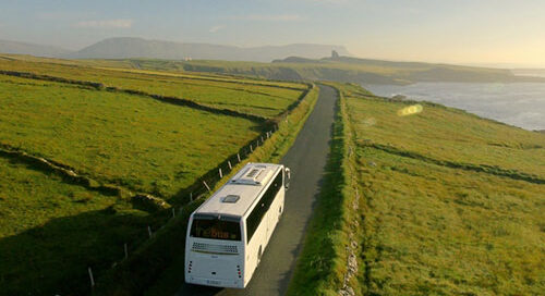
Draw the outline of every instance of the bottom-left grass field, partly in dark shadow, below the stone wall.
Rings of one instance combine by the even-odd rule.
[[[117,196],[0,157],[0,295],[87,294],[87,267],[121,260],[152,221]]]

